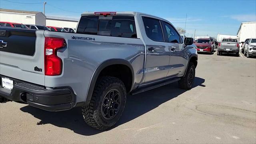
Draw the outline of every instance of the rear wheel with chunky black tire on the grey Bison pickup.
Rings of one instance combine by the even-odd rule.
[[[89,126],[107,130],[119,120],[125,103],[124,83],[118,78],[104,76],[97,81],[90,103],[82,107],[82,116]]]

